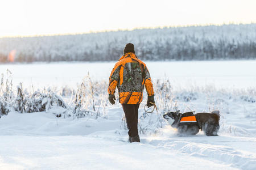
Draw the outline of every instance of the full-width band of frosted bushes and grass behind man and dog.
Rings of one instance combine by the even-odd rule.
[[[86,117],[97,119],[108,118],[106,107],[116,107],[108,101],[108,83],[93,81],[89,75],[83,79],[77,90],[59,87],[33,91],[24,88],[21,83],[14,90],[10,72],[8,72],[8,76],[2,75],[1,82],[0,116],[7,115],[10,111],[16,111],[19,113],[53,113],[56,117],[63,118]],[[242,116],[256,117],[256,112],[251,112],[250,108],[246,106],[247,104],[255,104],[256,91],[254,88],[226,90],[209,86],[175,89],[168,79],[156,80],[153,85],[158,112],[156,112],[156,109],[152,113],[144,111],[144,105],[147,101],[147,94],[144,91],[138,116],[138,130],[141,134],[154,135],[160,133],[162,127],[168,125],[163,119],[163,114],[169,111],[180,110],[181,113],[188,111],[211,112],[217,109],[220,111],[222,118],[225,114],[232,114],[234,109],[239,106],[243,107],[244,110],[241,113]],[[59,111],[55,112],[56,109],[59,109]],[[122,109],[120,109],[120,112],[123,113]],[[124,114],[120,121],[121,129],[127,130]],[[238,131],[236,128],[230,130],[224,125],[225,122],[222,122],[221,119],[221,130],[225,133]]]

